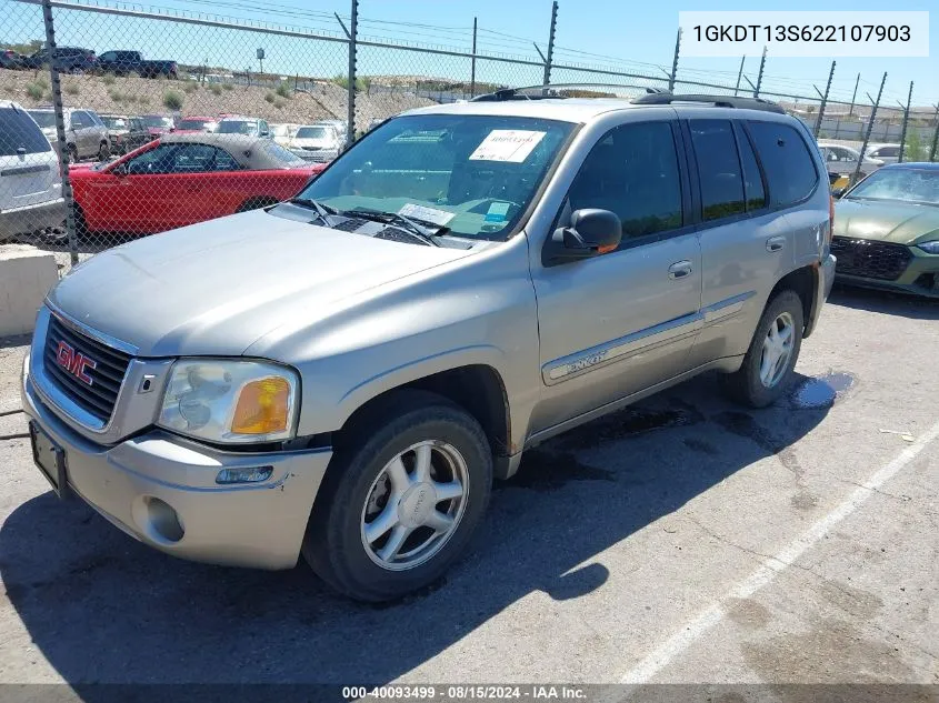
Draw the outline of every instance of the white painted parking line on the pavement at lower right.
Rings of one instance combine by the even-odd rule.
[[[623,675],[620,680],[621,683],[648,683],[656,674],[668,666],[676,656],[681,654],[708,630],[721,621],[727,612],[725,603],[731,599],[749,597],[767,585],[778,573],[789,568],[813,544],[828,534],[835,525],[860,508],[880,486],[897,475],[903,466],[916,459],[936,438],[939,438],[939,422],[921,434],[919,439],[900,452],[890,463],[876,471],[873,475],[865,481],[860,488],[856,489],[835,510],[816,522],[775,556],[763,560],[762,564],[753,573],[731,589],[722,599],[705,609],[695,620],[666,640],[651,654]]]

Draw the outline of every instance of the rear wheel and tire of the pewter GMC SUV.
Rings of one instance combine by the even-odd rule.
[[[802,300],[780,291],[767,303],[740,369],[720,376],[723,391],[750,408],[775,403],[792,378],[803,331]]]

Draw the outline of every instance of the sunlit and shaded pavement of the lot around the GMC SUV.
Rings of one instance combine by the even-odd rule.
[[[0,682],[916,683],[935,695],[937,349],[937,304],[836,290],[785,401],[743,411],[703,376],[557,438],[497,486],[466,560],[381,607],[333,596],[302,564],[157,553],[58,502],[27,442],[0,441]],[[18,406],[22,351],[0,348],[0,411]],[[24,426],[0,422],[0,434]],[[732,691],[710,700],[748,700]],[[906,690],[885,691],[852,700]]]

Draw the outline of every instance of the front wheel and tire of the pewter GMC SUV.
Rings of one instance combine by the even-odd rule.
[[[303,556],[343,595],[401,597],[463,552],[491,483],[489,442],[472,415],[433,393],[398,391],[337,442]]]

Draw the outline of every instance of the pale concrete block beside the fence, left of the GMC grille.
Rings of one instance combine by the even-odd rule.
[[[59,281],[56,257],[28,244],[0,247],[0,337],[27,334]]]

